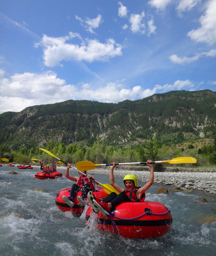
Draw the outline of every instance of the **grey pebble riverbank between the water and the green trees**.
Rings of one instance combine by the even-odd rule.
[[[14,167],[18,165],[19,164],[15,165]],[[39,165],[32,166],[33,168],[40,170]],[[57,170],[66,170],[66,166],[58,165]],[[97,167],[90,172],[92,175],[109,175],[110,167]],[[116,166],[115,168],[115,176],[124,177],[128,173],[136,175],[138,180],[141,182],[148,182],[149,180],[148,166],[122,165]],[[173,166],[165,167],[162,170],[155,169],[154,183],[173,186],[175,190],[185,191],[188,193],[192,193],[194,190],[198,190],[210,194],[216,194],[216,169],[179,168]]]

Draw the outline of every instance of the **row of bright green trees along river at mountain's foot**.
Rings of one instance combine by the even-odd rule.
[[[10,148],[9,144],[0,145],[0,158],[8,158],[10,163],[30,163],[32,158],[40,160],[54,160],[49,154],[40,150],[44,148],[49,150],[58,158],[65,162],[77,163],[79,161],[91,161],[99,163],[129,163],[145,162],[148,159],[153,161],[171,160],[177,157],[194,157],[197,163],[193,164],[196,168],[213,168],[216,169],[216,135],[212,137],[208,144],[203,143],[197,149],[194,143],[170,144],[159,146],[158,140],[153,138],[146,143],[134,146],[110,146],[104,140],[97,136],[91,147],[70,144],[65,146],[62,141],[50,140],[46,145],[37,148],[28,149],[22,147],[18,151]],[[191,167],[191,164],[181,164],[182,167]],[[157,166],[155,166],[157,168]]]

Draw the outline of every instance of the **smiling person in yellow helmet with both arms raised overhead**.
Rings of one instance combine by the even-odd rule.
[[[112,192],[107,197],[97,200],[94,198],[93,194],[89,192],[88,201],[92,206],[92,209],[96,208],[98,209],[98,213],[100,211],[103,216],[109,216],[110,210],[123,202],[143,202],[146,197],[145,192],[154,183],[153,163],[151,162],[151,160],[147,161],[147,165],[150,167],[149,181],[144,186],[138,187],[137,177],[134,174],[127,174],[123,179],[126,189],[115,183],[113,170],[116,165],[113,163],[113,165],[110,166],[110,184],[119,192],[119,194],[117,195],[115,192]]]

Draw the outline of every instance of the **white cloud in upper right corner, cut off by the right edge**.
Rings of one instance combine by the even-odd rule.
[[[213,44],[216,42],[216,0],[210,0],[206,4],[205,15],[199,18],[201,27],[188,32],[188,36],[196,42],[207,42]]]

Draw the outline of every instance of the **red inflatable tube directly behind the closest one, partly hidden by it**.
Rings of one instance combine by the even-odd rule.
[[[66,196],[68,197],[70,195],[70,188],[65,188],[64,190],[61,190],[59,191],[57,194],[56,194],[56,198],[55,198],[55,203],[56,203],[56,206],[63,210],[63,212],[69,212],[71,211],[72,213],[74,214],[82,214],[84,208],[85,208],[85,205],[83,207],[80,207],[79,206],[79,201],[77,201],[77,197],[78,196],[81,196],[81,192],[78,192],[75,197],[74,197],[74,206],[72,208],[70,208],[69,205],[67,205],[63,200],[62,200],[62,197],[63,196]],[[95,187],[95,191],[93,192],[93,195],[95,198],[102,198],[102,197],[106,197],[107,194],[106,192],[103,190],[103,188],[101,187]],[[89,205],[89,202],[88,200],[86,199],[85,200],[85,203],[87,203],[87,205]]]

